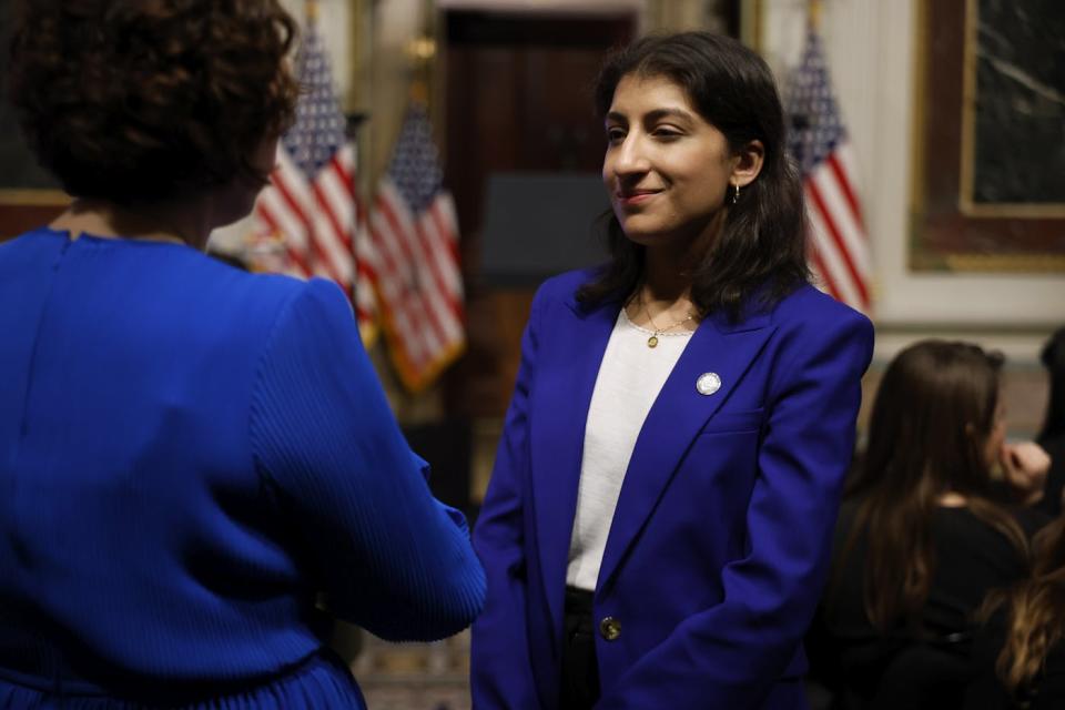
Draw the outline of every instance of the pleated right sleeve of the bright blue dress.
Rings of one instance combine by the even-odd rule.
[[[466,520],[430,494],[332,283],[308,282],[274,324],[250,433],[334,613],[390,640],[474,620],[485,576]]]

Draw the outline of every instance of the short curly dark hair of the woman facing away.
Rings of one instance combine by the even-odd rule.
[[[9,92],[41,164],[118,204],[235,178],[292,122],[296,24],[276,0],[17,0]]]

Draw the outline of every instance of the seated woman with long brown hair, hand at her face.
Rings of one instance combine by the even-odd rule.
[[[957,707],[974,611],[1028,571],[1042,519],[1000,503],[992,468],[1031,488],[1046,462],[1005,443],[1001,367],[976,345],[923,341],[884,373],[810,643],[840,707]]]

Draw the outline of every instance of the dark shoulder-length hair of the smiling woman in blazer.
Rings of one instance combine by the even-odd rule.
[[[785,154],[784,112],[765,62],[739,41],[708,32],[645,37],[602,67],[595,89],[600,116],[629,74],[665,77],[682,88],[733,153],[754,140],[765,150],[758,178],[728,205],[720,234],[693,270],[691,300],[700,315],[722,312],[734,321],[808,283],[802,183]],[[611,261],[578,292],[585,304],[633,293],[642,274],[643,247],[625,236],[616,216],[602,220]]]

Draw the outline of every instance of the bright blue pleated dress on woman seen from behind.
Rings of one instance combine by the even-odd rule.
[[[364,707],[329,616],[428,640],[484,601],[425,473],[335,285],[0,244],[0,708]]]

